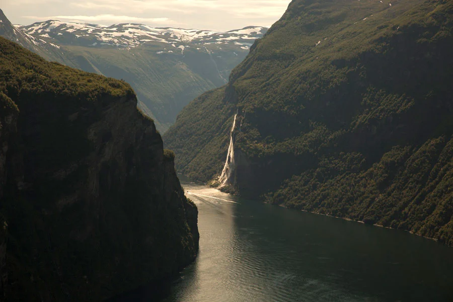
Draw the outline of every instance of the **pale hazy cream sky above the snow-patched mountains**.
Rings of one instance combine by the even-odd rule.
[[[111,25],[150,26],[225,31],[249,25],[270,26],[290,0],[1,0],[13,24],[49,19]]]

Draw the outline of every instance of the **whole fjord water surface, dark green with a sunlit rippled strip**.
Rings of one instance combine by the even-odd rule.
[[[182,185],[199,210],[198,258],[121,301],[453,301],[453,248]]]

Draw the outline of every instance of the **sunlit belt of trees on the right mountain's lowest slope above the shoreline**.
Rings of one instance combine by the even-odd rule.
[[[395,146],[370,168],[363,156],[323,158],[268,202],[409,230],[452,246],[453,137]]]

